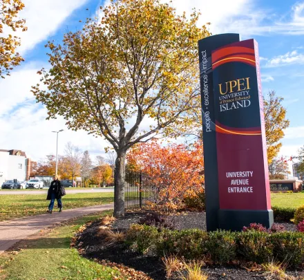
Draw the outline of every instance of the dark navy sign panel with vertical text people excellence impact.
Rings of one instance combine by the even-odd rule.
[[[200,91],[202,96],[202,133],[205,162],[205,190],[206,190],[206,214],[207,230],[217,230],[218,209],[220,202],[218,197],[218,160],[216,154],[216,124],[213,96],[213,74],[211,53],[212,50],[227,44],[240,41],[238,34],[220,34],[207,37],[198,41],[200,59]]]

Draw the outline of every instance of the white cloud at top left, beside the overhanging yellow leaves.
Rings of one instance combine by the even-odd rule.
[[[18,32],[21,37],[20,53],[53,35],[64,20],[88,0],[23,0],[25,8],[20,17],[26,19],[28,31]]]

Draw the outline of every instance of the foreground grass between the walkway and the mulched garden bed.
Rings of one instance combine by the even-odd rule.
[[[43,236],[38,236],[37,239],[22,241],[23,250],[18,254],[0,256],[0,279],[110,280],[113,279],[113,275],[119,276],[120,273],[117,270],[88,261],[79,256],[75,248],[70,248],[74,232],[81,225],[109,213],[103,212],[77,218]]]

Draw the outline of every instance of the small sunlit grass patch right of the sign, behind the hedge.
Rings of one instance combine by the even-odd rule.
[[[272,205],[292,208],[299,207],[301,205],[304,205],[304,193],[272,193]]]

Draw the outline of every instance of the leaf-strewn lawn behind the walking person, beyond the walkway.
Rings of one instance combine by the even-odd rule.
[[[66,194],[62,198],[64,209],[101,205],[113,202],[114,194]],[[50,200],[46,194],[1,194],[0,195],[0,221],[22,216],[32,216],[45,213]],[[55,200],[55,207],[57,202]],[[57,210],[55,208],[55,210]]]

